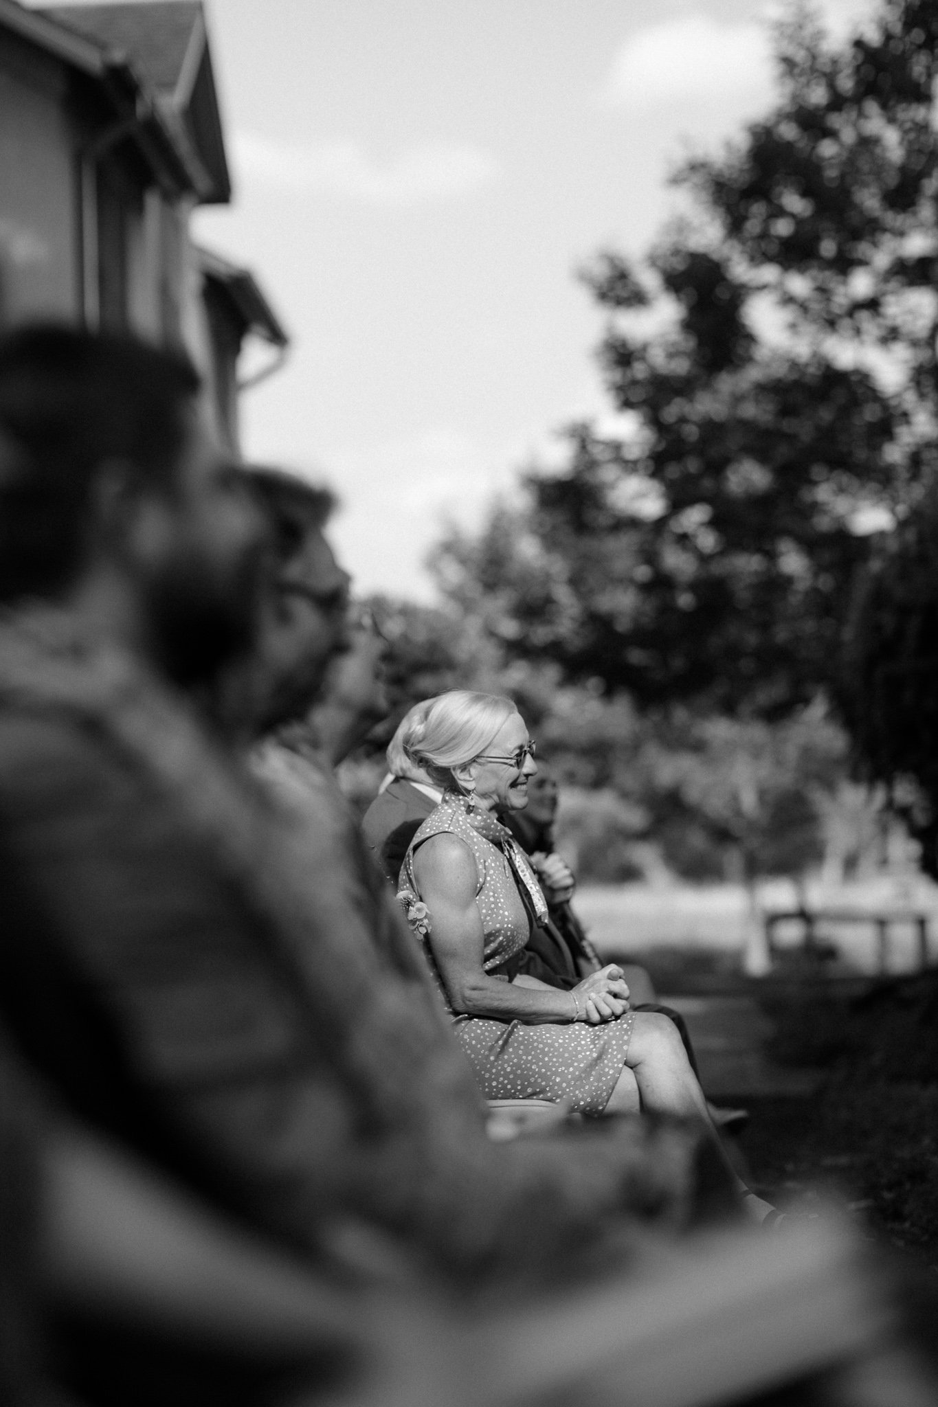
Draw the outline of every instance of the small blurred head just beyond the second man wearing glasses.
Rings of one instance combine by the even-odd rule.
[[[388,716],[388,642],[367,606],[354,608],[349,647],[326,668],[318,702],[307,715],[315,743],[335,767]]]

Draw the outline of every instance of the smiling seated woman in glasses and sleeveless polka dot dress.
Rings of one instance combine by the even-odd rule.
[[[443,801],[416,832],[398,898],[425,940],[456,1034],[488,1099],[568,1100],[581,1113],[672,1114],[713,1140],[747,1193],[707,1113],[672,1021],[633,1012],[610,964],[571,991],[519,972],[532,926],[547,915],[537,878],[495,809],[523,809],[536,775],[525,720],[510,699],[451,691],[433,701],[408,753]]]

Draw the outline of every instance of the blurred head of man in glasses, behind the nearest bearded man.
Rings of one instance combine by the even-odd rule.
[[[263,733],[302,718],[349,647],[350,577],[323,536],[330,490],[260,466],[245,477],[269,529],[249,684],[250,722]]]

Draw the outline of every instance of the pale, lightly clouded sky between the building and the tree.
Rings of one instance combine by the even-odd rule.
[[[827,0],[838,27],[866,0]],[[608,411],[575,269],[641,252],[690,142],[771,101],[750,0],[208,0],[235,174],[197,234],[293,335],[246,450],[325,477],[361,590],[429,594],[564,422]],[[555,446],[555,442],[553,442]]]

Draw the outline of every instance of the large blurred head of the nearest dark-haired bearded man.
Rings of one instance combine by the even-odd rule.
[[[129,336],[0,342],[0,599],[69,605],[183,684],[248,644],[260,532],[198,393]]]

